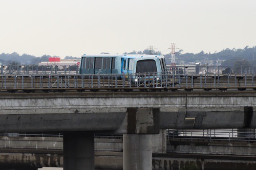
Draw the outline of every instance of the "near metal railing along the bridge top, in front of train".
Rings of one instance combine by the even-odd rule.
[[[219,89],[237,88],[256,90],[254,74],[205,74],[205,75],[173,75],[172,72],[142,73],[142,74],[90,74],[90,75],[0,75],[0,90],[67,90],[67,89],[110,89],[132,90],[159,89],[159,90],[193,90],[193,89]]]

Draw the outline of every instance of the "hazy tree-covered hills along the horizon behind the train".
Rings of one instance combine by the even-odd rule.
[[[101,53],[101,54],[109,54],[109,53]],[[125,52],[123,54],[152,54],[152,55],[163,55],[165,57],[165,61],[167,64],[170,64],[170,54],[162,54],[160,51],[155,50],[143,50],[143,51],[132,51],[132,52]],[[256,46],[249,47],[246,46],[243,49],[236,49],[236,48],[226,48],[220,52],[215,53],[205,53],[201,51],[200,53],[183,53],[183,50],[179,50],[176,52],[175,56],[177,57],[177,64],[189,63],[189,62],[201,62],[203,64],[207,64],[208,61],[215,61],[214,64],[217,64],[216,61],[221,60],[221,66],[236,66],[236,65],[243,65],[243,66],[256,66]],[[19,55],[18,53],[14,52],[11,54],[0,54],[0,62],[2,64],[10,64],[10,63],[18,63],[18,64],[30,64],[30,65],[37,65],[39,62],[48,61],[49,57],[56,57],[56,56],[49,56],[43,55],[41,57],[36,57],[29,54]],[[65,59],[78,59],[77,57],[66,56]]]

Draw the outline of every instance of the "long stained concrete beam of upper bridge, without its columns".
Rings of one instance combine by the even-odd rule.
[[[133,114],[133,108],[160,108],[159,115],[153,111],[154,126],[146,123],[147,113]],[[256,128],[254,110],[256,92],[251,91],[0,94],[0,132],[155,134],[147,128],[158,125],[160,129]]]

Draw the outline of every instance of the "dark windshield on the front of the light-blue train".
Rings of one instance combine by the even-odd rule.
[[[157,65],[155,60],[139,60],[136,67],[137,73],[142,72],[157,72]]]

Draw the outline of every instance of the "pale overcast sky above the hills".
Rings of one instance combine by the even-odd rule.
[[[0,54],[184,53],[256,46],[255,0],[0,0]],[[178,49],[179,48],[179,49]]]

